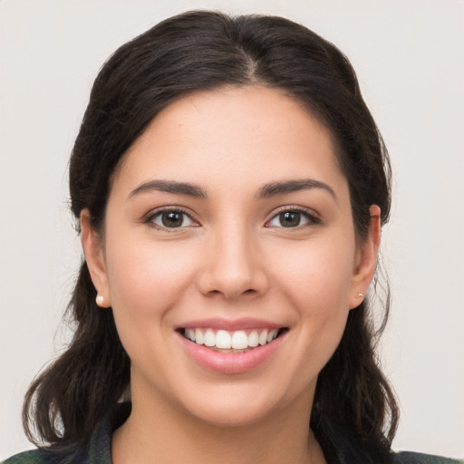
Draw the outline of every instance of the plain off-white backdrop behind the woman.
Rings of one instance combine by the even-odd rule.
[[[92,81],[119,45],[193,8],[285,15],[351,59],[393,164],[394,449],[464,457],[462,1],[0,0],[0,459],[31,448],[24,391],[70,335],[81,248],[66,170]]]

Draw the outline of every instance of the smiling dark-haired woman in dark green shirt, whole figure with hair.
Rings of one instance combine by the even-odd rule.
[[[24,402],[49,446],[6,462],[447,462],[391,453],[366,299],[389,160],[332,44],[158,24],[97,77],[70,189],[77,329]]]

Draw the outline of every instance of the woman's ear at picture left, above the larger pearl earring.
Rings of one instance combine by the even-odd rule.
[[[99,303],[99,305],[107,308],[111,306],[111,300],[102,238],[99,237],[92,227],[91,213],[87,208],[82,209],[80,221],[81,241],[85,261],[91,274],[93,286],[97,290],[97,294],[103,297],[102,303]]]

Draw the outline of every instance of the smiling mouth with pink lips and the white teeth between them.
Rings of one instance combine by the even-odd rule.
[[[178,327],[179,341],[200,366],[222,373],[256,369],[285,339],[288,329],[256,319],[192,321]]]

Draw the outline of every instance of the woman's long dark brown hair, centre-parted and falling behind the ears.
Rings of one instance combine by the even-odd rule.
[[[208,11],[161,22],[122,45],[103,66],[70,162],[75,217],[88,208],[92,227],[102,226],[111,174],[171,102],[189,92],[255,84],[284,90],[332,133],[357,237],[366,237],[372,204],[381,208],[384,224],[391,202],[389,159],[343,53],[281,17]],[[76,324],[73,341],[25,397],[24,428],[30,440],[38,437],[35,443],[85,440],[129,388],[130,359],[111,311],[99,309],[95,295],[84,262],[68,308]],[[385,306],[386,320],[388,298]],[[342,341],[320,372],[312,421],[324,417],[382,454],[390,450],[398,408],[375,357],[378,333],[371,319],[368,300],[350,311]]]

